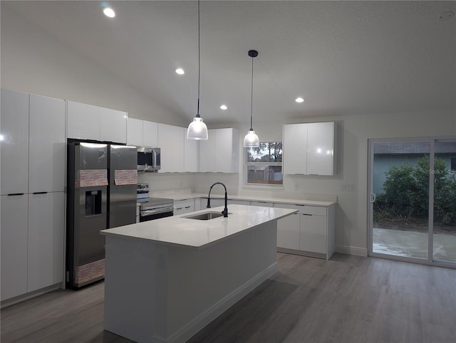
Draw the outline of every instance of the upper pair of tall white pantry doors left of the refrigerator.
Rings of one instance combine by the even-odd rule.
[[[1,134],[1,194],[64,190],[64,100],[1,90]]]

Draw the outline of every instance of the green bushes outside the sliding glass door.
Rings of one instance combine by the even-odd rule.
[[[386,171],[384,193],[378,194],[373,204],[376,223],[395,218],[427,220],[430,176],[434,177],[434,222],[447,226],[456,223],[455,171],[437,157],[432,170],[429,164],[429,156],[425,155],[415,166],[404,163]]]

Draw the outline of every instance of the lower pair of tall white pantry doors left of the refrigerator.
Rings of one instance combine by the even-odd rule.
[[[63,282],[65,194],[1,196],[1,300]]]

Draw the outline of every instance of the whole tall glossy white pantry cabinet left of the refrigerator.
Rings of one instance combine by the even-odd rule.
[[[1,300],[63,282],[65,102],[1,90]]]

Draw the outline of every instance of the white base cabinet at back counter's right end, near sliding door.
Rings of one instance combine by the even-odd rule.
[[[277,250],[331,258],[336,244],[335,205],[276,204],[298,213],[277,221]]]

